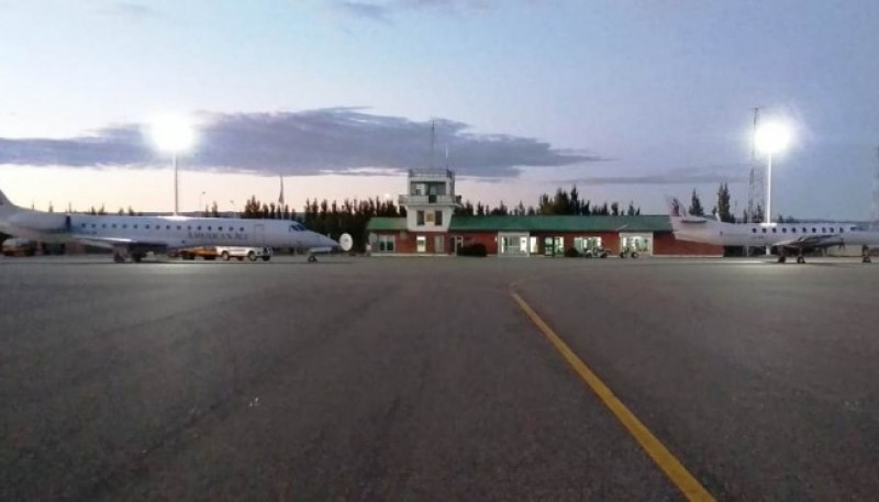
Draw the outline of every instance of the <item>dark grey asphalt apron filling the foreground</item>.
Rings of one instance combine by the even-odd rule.
[[[879,265],[0,258],[0,500],[876,500]]]

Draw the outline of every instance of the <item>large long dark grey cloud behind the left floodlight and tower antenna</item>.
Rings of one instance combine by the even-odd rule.
[[[476,134],[468,125],[374,115],[334,108],[278,113],[202,113],[194,150],[181,157],[188,169],[265,175],[346,174],[374,176],[445,165],[464,176],[508,178],[522,167],[567,166],[603,160],[585,152],[559,149],[535,138]],[[148,140],[146,124],[104,127],[66,140],[0,138],[0,164],[70,167],[155,167],[167,165]]]

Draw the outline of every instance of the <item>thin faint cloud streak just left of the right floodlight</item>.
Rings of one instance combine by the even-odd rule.
[[[560,181],[567,185],[699,185],[744,182],[748,179],[748,164],[726,166],[687,167],[641,176],[596,176]]]

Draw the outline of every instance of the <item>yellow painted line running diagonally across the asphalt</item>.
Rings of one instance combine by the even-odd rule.
[[[510,292],[513,300],[519,303],[522,311],[531,319],[534,325],[546,336],[561,356],[574,368],[577,375],[583,379],[599,399],[616,416],[616,419],[628,431],[632,437],[638,442],[642,448],[650,456],[654,462],[661,469],[668,479],[683,493],[688,500],[714,501],[714,498],[702,483],[696,479],[690,471],[663,445],[659,439],[635,416],[628,408],[620,401],[613,391],[601,381],[600,378],[582,361],[574,350],[568,347],[560,336],[549,327],[543,319],[522,299],[515,291]]]

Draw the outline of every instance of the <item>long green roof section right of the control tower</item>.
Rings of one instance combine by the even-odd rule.
[[[454,216],[449,232],[671,232],[665,215]]]

